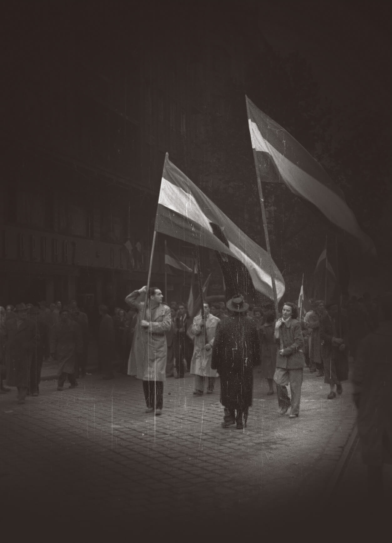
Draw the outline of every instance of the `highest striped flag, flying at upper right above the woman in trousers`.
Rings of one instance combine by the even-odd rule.
[[[335,226],[357,238],[363,252],[376,254],[346,204],[344,194],[311,154],[246,97],[255,166],[263,181],[283,182],[290,191],[316,206]]]

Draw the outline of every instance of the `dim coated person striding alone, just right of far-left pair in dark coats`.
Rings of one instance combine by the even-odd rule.
[[[80,326],[69,318],[68,309],[59,311],[59,322],[54,325],[50,336],[50,354],[59,363],[57,390],[64,389],[68,378],[69,388],[78,386],[75,379],[75,364],[78,353],[83,349]]]

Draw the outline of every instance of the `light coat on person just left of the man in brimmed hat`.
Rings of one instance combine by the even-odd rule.
[[[191,360],[191,374],[200,375],[203,377],[216,377],[218,375],[217,370],[211,369],[212,349],[210,351],[206,351],[206,344],[209,343],[211,346],[213,345],[215,330],[217,324],[219,323],[219,319],[218,317],[214,317],[214,315],[211,313],[208,315],[205,321],[205,342],[200,321],[201,315],[199,314],[193,319],[192,324],[191,333],[194,337],[194,349]]]

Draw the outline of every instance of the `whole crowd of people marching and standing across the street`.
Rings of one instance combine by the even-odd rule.
[[[267,395],[275,394],[275,382],[278,413],[290,409],[289,418],[296,419],[304,369],[317,372],[314,378],[324,377],[327,398],[333,400],[343,393],[350,354],[358,427],[368,444],[365,458],[371,481],[380,483],[380,465],[390,462],[392,444],[390,295],[376,300],[365,293],[361,299],[352,296],[327,305],[310,300],[311,308],[302,316],[296,302],[285,301],[277,318],[272,307],[252,306],[242,295],[226,304],[204,303],[203,314],[193,317],[184,302],[173,301],[169,307],[162,300],[159,288],[142,287],[125,298],[128,311],[116,307],[110,315],[108,307],[99,306],[96,365],[104,380],[114,377],[112,362],[117,359],[125,374],[142,380],[147,412],[160,415],[166,378],[181,379],[190,372],[193,394],[202,396],[213,394],[219,376],[222,426],[244,429],[254,368],[268,384]],[[38,396],[45,359],[58,363],[59,391],[66,380],[70,388],[77,387],[77,378],[87,373],[89,338],[87,314],[75,300],[0,307],[0,393],[16,387],[21,404],[28,394]]]

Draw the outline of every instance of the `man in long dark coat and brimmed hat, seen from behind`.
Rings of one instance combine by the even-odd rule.
[[[252,405],[252,370],[260,357],[260,340],[255,321],[245,316],[249,306],[243,296],[234,296],[226,305],[233,314],[218,322],[211,367],[220,375],[222,427],[237,423],[236,427],[243,430]]]

